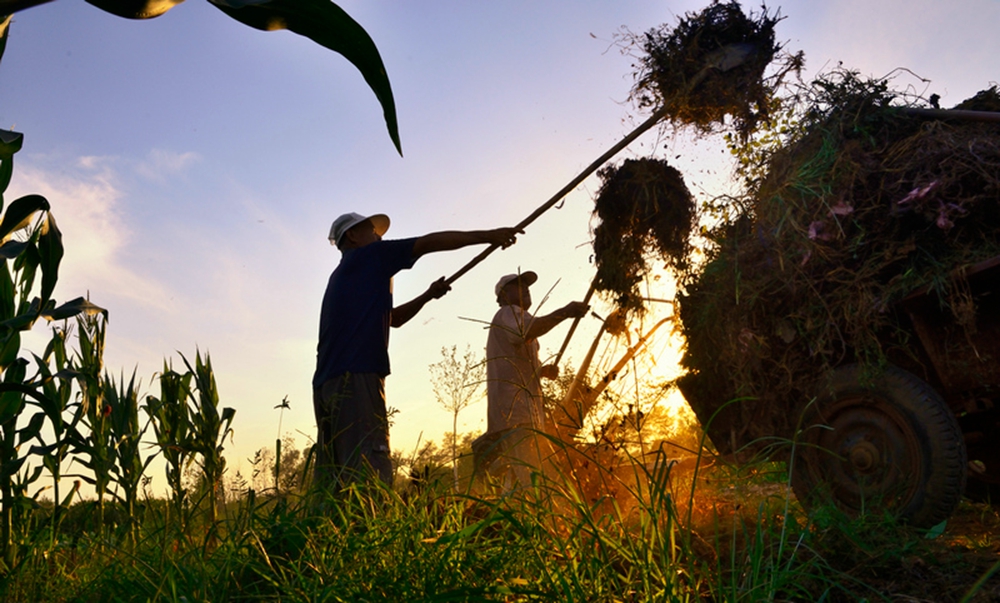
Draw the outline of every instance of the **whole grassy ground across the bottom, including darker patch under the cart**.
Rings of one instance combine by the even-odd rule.
[[[963,503],[943,530],[806,516],[783,466],[634,465],[614,498],[566,476],[507,496],[442,484],[336,496],[244,492],[215,522],[141,505],[132,544],[78,503],[44,510],[4,601],[991,601],[1000,515]],[[620,472],[619,472],[620,474]],[[447,485],[444,485],[444,484]]]

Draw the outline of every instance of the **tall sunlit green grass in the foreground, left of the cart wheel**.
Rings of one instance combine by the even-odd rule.
[[[185,538],[171,525],[167,501],[148,500],[136,547],[102,548],[86,532],[56,550],[32,547],[0,595],[760,601],[805,600],[839,588],[841,575],[808,548],[808,527],[787,498],[765,497],[752,512],[737,510],[724,497],[740,496],[742,477],[713,471],[719,483],[695,486],[690,472],[665,458],[652,465],[631,459],[625,467],[604,476],[622,486],[614,498],[585,495],[564,473],[535,473],[530,487],[506,494],[456,495],[448,481],[404,492],[377,484],[334,495],[249,490],[216,522],[202,516]]]

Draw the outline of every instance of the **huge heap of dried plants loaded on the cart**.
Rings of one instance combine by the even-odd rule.
[[[745,209],[684,275],[679,385],[703,424],[722,408],[709,434],[723,450],[790,436],[831,367],[918,362],[897,303],[931,284],[960,312],[949,272],[1000,255],[1000,124],[908,114],[887,81],[852,72],[810,90]],[[994,87],[959,107],[998,106]]]

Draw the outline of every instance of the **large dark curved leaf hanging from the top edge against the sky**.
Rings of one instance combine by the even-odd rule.
[[[344,56],[361,71],[382,105],[389,137],[400,155],[396,103],[375,42],[361,25],[328,0],[209,0],[216,8],[262,31],[288,29]]]

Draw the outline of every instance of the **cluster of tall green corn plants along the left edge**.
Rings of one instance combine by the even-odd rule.
[[[0,151],[17,148],[0,145]],[[4,186],[10,180],[11,161],[12,153],[0,152]],[[167,461],[173,517],[182,534],[187,510],[181,475],[186,464],[194,458],[201,461],[204,481],[211,485],[211,522],[225,472],[223,440],[232,432],[235,411],[219,409],[209,358],[203,360],[198,353],[193,367],[185,359],[188,371],[183,375],[165,364],[161,398],[150,397],[140,408],[135,373],[126,381],[124,375],[116,380],[104,370],[107,311],[84,298],[58,306],[51,299],[62,255],[61,235],[47,200],[28,195],[6,207],[0,219],[0,575],[16,567],[23,550],[31,550],[30,540],[41,538],[33,527],[47,526],[44,550],[61,546],[66,511],[81,481],[96,494],[88,505],[94,514],[90,527],[100,546],[112,536],[108,527],[117,527],[122,530],[118,536],[127,538],[134,550],[143,517],[142,488],[153,458],[162,453]],[[32,354],[32,374],[31,363],[20,357],[20,333],[40,317],[75,318],[77,346],[68,350],[65,322],[53,328],[44,353]],[[158,449],[146,454],[142,440],[150,424]],[[67,465],[81,470],[70,475],[79,479],[64,495],[60,482]],[[51,486],[30,494],[30,486],[45,472]],[[46,514],[38,496],[49,488],[54,500]]]

